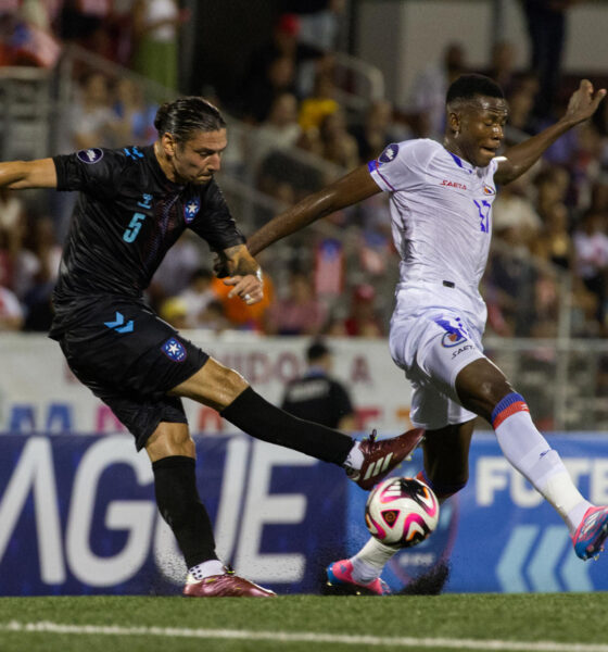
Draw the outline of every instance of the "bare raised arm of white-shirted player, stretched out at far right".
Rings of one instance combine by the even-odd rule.
[[[572,93],[566,113],[555,125],[547,127],[536,136],[516,145],[507,150],[505,160],[498,163],[494,175],[497,184],[508,184],[521,176],[542,156],[560,136],[579,123],[588,120],[605,98],[606,89],[601,88],[595,95],[593,84],[583,79],[579,88]]]

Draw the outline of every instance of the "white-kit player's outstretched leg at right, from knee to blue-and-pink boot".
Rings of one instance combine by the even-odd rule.
[[[494,428],[505,457],[566,522],[581,559],[603,550],[608,507],[596,507],[574,486],[557,451],[534,426],[530,410],[504,374],[487,359],[465,366],[455,383],[463,405]]]

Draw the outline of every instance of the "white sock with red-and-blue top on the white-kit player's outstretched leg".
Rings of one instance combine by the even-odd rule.
[[[505,416],[503,413],[501,418],[503,402],[505,399],[493,414],[494,431],[503,454],[555,507],[568,525],[570,534],[574,534],[592,504],[581,496],[557,451],[550,448],[534,426],[523,399],[516,401],[516,405],[512,401],[507,404],[507,414]]]

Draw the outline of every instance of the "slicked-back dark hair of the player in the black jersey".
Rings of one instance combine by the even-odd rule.
[[[226,121],[211,102],[191,96],[162,104],[156,111],[154,126],[159,137],[172,134],[177,142],[185,142],[194,131],[218,131],[226,128]]]

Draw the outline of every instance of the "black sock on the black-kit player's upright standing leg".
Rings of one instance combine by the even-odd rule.
[[[216,560],[213,529],[197,491],[195,462],[172,455],[152,463],[156,504],[172,528],[188,568]]]

